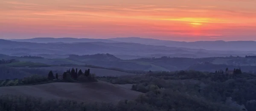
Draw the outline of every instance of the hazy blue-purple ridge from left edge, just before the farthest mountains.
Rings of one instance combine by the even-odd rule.
[[[40,40],[35,38],[33,40]],[[48,40],[51,40],[48,38]],[[52,39],[55,40],[55,39]],[[64,40],[64,39],[62,39]],[[76,39],[71,39],[76,40]],[[31,40],[30,40],[31,41]],[[90,40],[88,40],[90,41]],[[111,40],[107,40],[111,41]],[[112,40],[113,41],[113,40]],[[45,41],[46,42],[46,41]],[[181,48],[170,46],[154,46],[140,43],[123,42],[58,42],[58,43],[33,43],[17,42],[10,40],[0,40],[1,54],[12,56],[22,55],[86,55],[109,53],[121,59],[136,59],[140,57],[226,57],[226,56],[245,56],[255,55],[254,51],[211,51],[205,49]],[[137,41],[139,42],[139,41]],[[242,46],[241,46],[242,47]]]

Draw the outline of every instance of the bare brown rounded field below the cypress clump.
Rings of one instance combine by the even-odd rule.
[[[1,87],[0,94],[42,97],[43,100],[68,99],[80,102],[113,102],[133,100],[140,92],[99,81],[96,83],[48,83]]]

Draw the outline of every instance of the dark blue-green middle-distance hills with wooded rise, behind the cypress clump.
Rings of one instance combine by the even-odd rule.
[[[256,58],[250,57],[206,57],[206,58],[186,58],[186,57],[159,57],[140,58],[133,60],[122,60],[112,54],[94,55],[70,55],[67,58],[46,59],[46,58],[23,58],[2,55],[2,59],[15,59],[20,62],[5,64],[11,67],[90,67],[113,68],[130,71],[176,71],[195,69],[199,71],[224,70],[225,68],[242,68],[246,72],[256,72]],[[96,67],[91,68],[96,68]],[[52,69],[51,69],[52,68]],[[48,70],[54,70],[54,67]],[[120,70],[118,70],[120,71]],[[97,72],[98,73],[98,72]],[[99,72],[100,73],[100,72]],[[116,75],[116,74],[113,74]]]

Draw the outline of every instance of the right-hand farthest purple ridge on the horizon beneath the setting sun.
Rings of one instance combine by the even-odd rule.
[[[195,41],[195,42],[180,42],[172,40],[157,40],[140,37],[124,37],[124,38],[111,38],[118,42],[128,43],[141,43],[146,45],[155,46],[169,46],[169,47],[183,47],[183,48],[196,48],[206,50],[222,50],[222,51],[256,51],[256,41]]]

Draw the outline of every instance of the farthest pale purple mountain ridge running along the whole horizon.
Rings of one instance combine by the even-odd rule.
[[[81,43],[81,42],[104,42],[104,43],[140,43],[153,46],[168,46],[195,48],[216,51],[256,51],[256,41],[196,41],[180,42],[171,40],[157,40],[139,37],[124,37],[110,39],[77,39],[77,38],[32,38],[32,39],[15,39],[17,42],[32,43]]]

